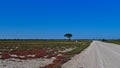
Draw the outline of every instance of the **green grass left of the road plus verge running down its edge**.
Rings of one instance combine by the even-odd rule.
[[[60,65],[70,60],[75,54],[80,53],[87,48],[91,40],[0,40],[0,52],[22,51],[32,49],[52,49],[55,51],[74,48],[72,51],[66,52],[64,59],[56,60],[57,64],[50,65],[45,68],[60,68]],[[52,53],[51,53],[52,54]],[[58,59],[61,57],[58,57]]]

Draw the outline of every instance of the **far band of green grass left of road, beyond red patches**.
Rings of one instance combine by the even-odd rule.
[[[29,50],[29,49],[42,49],[42,48],[70,48],[76,47],[71,53],[78,53],[90,44],[90,40],[0,40],[0,51],[13,50]],[[69,52],[70,54],[70,52]]]

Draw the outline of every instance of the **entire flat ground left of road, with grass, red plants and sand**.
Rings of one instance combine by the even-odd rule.
[[[0,68],[61,68],[90,40],[0,40]]]

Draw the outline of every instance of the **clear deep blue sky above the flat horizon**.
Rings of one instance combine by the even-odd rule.
[[[119,0],[0,0],[0,38],[120,38]]]

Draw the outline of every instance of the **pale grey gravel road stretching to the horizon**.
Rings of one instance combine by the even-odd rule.
[[[62,68],[120,68],[120,45],[93,41]]]

